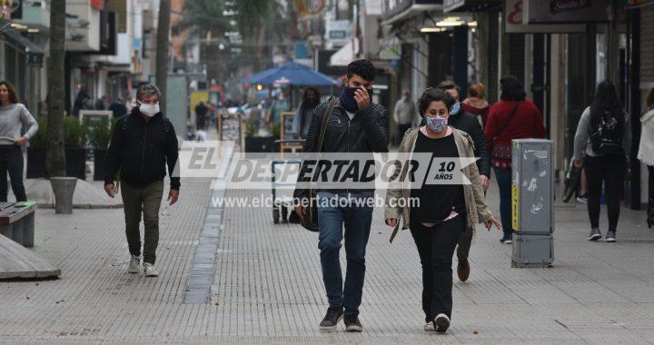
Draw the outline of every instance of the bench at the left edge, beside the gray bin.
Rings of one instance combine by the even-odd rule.
[[[0,234],[34,247],[35,202],[0,202]]]

